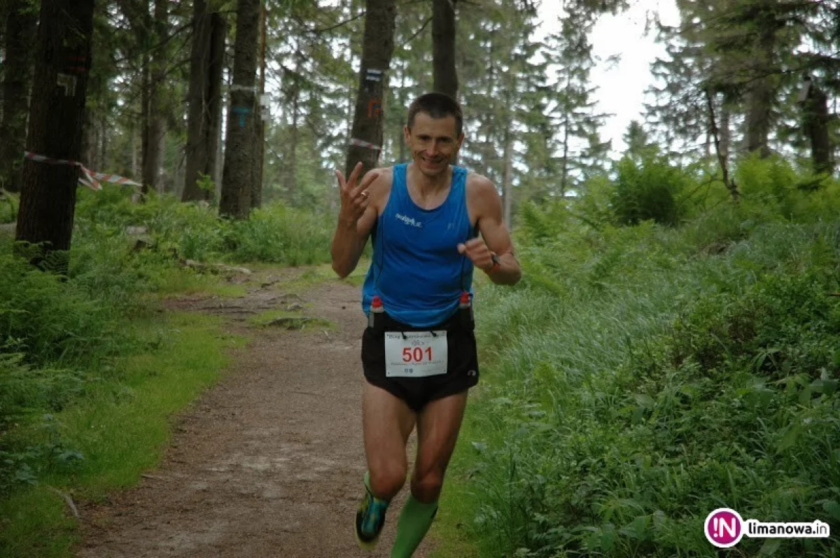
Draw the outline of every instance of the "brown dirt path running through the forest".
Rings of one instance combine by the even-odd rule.
[[[277,281],[289,271],[274,273]],[[78,556],[388,555],[396,513],[374,552],[360,550],[352,530],[365,471],[360,289],[331,280],[297,299],[284,295],[282,281],[269,284],[260,275],[262,281],[249,280],[244,298],[173,303],[223,313],[228,330],[247,330],[252,342],[177,420],[159,469],[107,503],[81,509]],[[291,308],[334,327],[246,323],[268,308]]]

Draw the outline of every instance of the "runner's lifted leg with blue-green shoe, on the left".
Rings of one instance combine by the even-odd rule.
[[[385,523],[391,498],[406,482],[406,443],[415,414],[398,397],[365,382],[362,424],[365,434],[365,498],[356,513],[355,533],[360,545],[372,548]]]

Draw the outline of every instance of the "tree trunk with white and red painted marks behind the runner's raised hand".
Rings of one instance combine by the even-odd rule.
[[[365,39],[359,71],[359,92],[347,150],[345,176],[361,161],[364,171],[377,166],[382,149],[382,126],[388,68],[394,50],[394,0],[367,0]]]

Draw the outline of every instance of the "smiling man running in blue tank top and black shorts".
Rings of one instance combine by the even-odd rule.
[[[427,93],[408,108],[403,134],[412,163],[345,179],[333,236],[333,270],[348,276],[370,236],[373,262],[362,288],[362,419],[368,472],[355,518],[372,548],[391,498],[406,482],[406,444],[417,427],[411,496],[397,521],[392,558],[411,556],[438,510],[438,496],[467,402],[478,382],[471,313],[475,267],[513,285],[521,271],[486,177],[452,166],[464,141],[461,108]],[[480,237],[478,234],[480,233]]]

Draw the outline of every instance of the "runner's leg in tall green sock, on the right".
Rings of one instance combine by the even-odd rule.
[[[409,558],[432,525],[466,403],[467,392],[457,393],[428,403],[417,417],[412,493],[396,524],[391,558]]]

